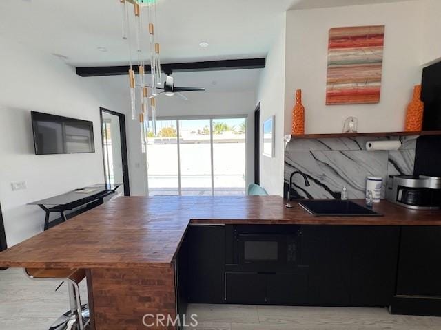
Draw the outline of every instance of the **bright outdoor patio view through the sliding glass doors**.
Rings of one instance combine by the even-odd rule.
[[[149,195],[245,195],[245,118],[158,120]]]

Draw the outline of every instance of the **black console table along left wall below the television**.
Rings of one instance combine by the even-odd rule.
[[[95,184],[93,186],[72,190],[62,195],[41,199],[41,201],[34,201],[28,203],[28,205],[38,205],[46,212],[44,230],[48,230],[52,223],[64,222],[68,217],[74,217],[77,214],[101,205],[104,203],[104,198],[114,194],[119,186],[121,186],[121,184]],[[66,211],[74,210],[81,206],[85,207],[68,215],[65,214]],[[49,221],[50,213],[59,213],[61,218]]]

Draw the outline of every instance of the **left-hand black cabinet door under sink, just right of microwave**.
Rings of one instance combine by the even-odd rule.
[[[302,226],[310,305],[349,305],[351,236],[346,226]]]

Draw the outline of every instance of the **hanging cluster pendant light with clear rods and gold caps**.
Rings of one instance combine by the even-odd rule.
[[[121,5],[121,19],[122,19],[122,36],[127,40],[129,47],[129,87],[130,87],[130,109],[132,111],[132,119],[139,118],[141,125],[141,142],[143,142],[143,152],[145,152],[145,144],[147,143],[148,132],[152,131],[156,135],[156,113],[157,104],[155,96],[157,94],[157,87],[162,85],[161,80],[161,58],[160,45],[155,36],[156,28],[156,1],[157,0],[119,0]],[[134,22],[135,22],[135,45],[132,45],[131,30],[130,30],[130,10],[127,8],[128,3],[134,6]],[[147,11],[147,24],[144,26],[143,9]],[[145,34],[148,31],[148,39]],[[148,47],[150,52],[150,74],[152,76],[152,85],[147,86],[145,81],[145,58],[143,56],[143,41],[148,40]],[[136,47],[136,60],[132,58],[132,47]],[[148,53],[145,53],[148,54]],[[138,72],[135,77],[135,71],[132,61],[137,61]],[[149,93],[148,89],[151,89]],[[139,89],[139,115],[136,113],[136,89]],[[150,98],[149,98],[150,96]],[[150,102],[149,102],[150,100]],[[152,115],[149,115],[149,108]],[[152,125],[150,126],[150,118]]]

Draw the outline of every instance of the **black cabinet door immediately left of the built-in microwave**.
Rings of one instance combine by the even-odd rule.
[[[223,303],[225,296],[225,227],[190,225],[187,289],[190,303]]]

